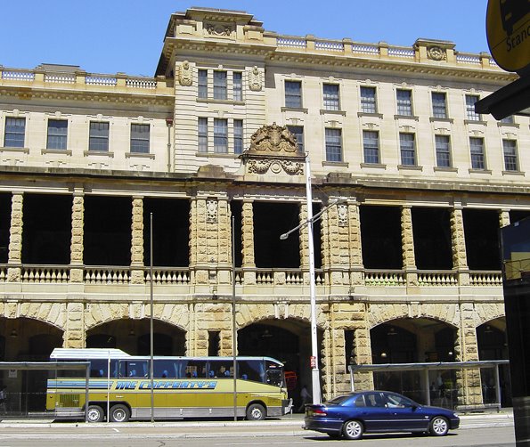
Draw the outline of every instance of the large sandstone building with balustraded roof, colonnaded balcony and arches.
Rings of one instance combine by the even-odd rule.
[[[350,362],[508,358],[498,229],[530,215],[530,128],[474,103],[513,78],[451,42],[201,8],[171,16],[154,77],[0,67],[0,361],[147,354],[152,216],[156,352],[232,354],[233,262],[238,353],[309,383],[307,234],[279,238],[306,220],[306,154],[314,212],[346,199],[315,223],[324,396]],[[441,379],[454,404],[490,399],[484,371]]]

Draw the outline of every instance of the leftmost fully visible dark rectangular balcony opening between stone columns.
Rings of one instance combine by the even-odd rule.
[[[22,264],[69,264],[72,196],[25,194],[22,208]]]

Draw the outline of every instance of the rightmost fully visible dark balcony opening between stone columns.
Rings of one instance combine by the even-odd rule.
[[[469,270],[501,270],[499,213],[464,209],[462,215]]]

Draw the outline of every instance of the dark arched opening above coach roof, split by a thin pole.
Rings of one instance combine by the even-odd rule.
[[[185,355],[186,333],[165,321],[153,320],[153,353]],[[86,331],[86,347],[115,347],[131,355],[151,354],[151,321],[108,321]]]

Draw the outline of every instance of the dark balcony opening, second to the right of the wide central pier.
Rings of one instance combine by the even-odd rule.
[[[451,270],[450,211],[444,208],[412,208],[414,255],[419,270]]]

